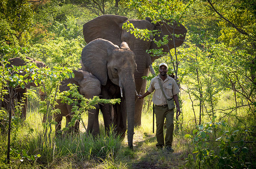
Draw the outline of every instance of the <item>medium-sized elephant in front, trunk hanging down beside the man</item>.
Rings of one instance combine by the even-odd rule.
[[[119,48],[108,40],[96,39],[83,48],[81,59],[85,69],[100,80],[102,98],[121,98],[120,104],[113,105],[113,118],[111,105],[100,105],[100,109],[106,131],[112,122],[114,130],[122,137],[127,129],[128,146],[133,148],[136,97],[134,53],[125,42]]]

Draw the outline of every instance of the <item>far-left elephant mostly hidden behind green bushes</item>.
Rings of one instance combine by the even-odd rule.
[[[30,58],[30,57],[26,57],[26,59],[28,60],[28,62],[35,63],[38,68],[46,67],[46,65],[43,62],[34,60],[33,58]],[[20,57],[10,58],[8,61],[10,62],[10,64],[7,64],[7,67],[24,66],[27,63]],[[20,72],[18,74],[25,75],[25,73],[20,73]],[[30,77],[28,77],[28,78],[30,78]],[[28,104],[28,97],[26,96],[26,92],[27,92],[27,89],[30,88],[30,86],[37,87],[35,85],[35,83],[26,84],[25,88],[21,88],[18,86],[16,88],[14,88],[14,97],[11,98],[12,100],[17,99],[18,102],[21,102],[23,100],[22,98],[25,98],[24,104],[22,106],[22,113],[21,113],[21,118],[23,120],[26,119],[26,108],[27,108],[27,104]],[[7,87],[5,89],[8,90]],[[9,103],[10,103],[11,99],[10,99],[9,95],[4,95],[4,101],[3,101],[2,106],[7,110],[9,110],[9,107],[10,107]]]

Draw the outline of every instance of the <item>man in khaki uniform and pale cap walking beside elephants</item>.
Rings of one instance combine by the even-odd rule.
[[[156,115],[156,147],[158,149],[162,149],[165,145],[166,149],[170,152],[174,151],[172,149],[172,139],[173,139],[173,116],[174,110],[169,110],[167,101],[163,95],[161,90],[159,80],[161,86],[163,87],[163,91],[167,99],[173,98],[176,103],[176,117],[180,115],[180,104],[177,94],[180,92],[180,89],[175,82],[175,80],[167,75],[168,67],[167,64],[161,63],[159,65],[159,75],[153,78],[150,82],[150,86],[148,90],[143,95],[137,95],[139,99],[143,99],[147,95],[151,94],[154,90],[154,95],[152,98],[153,103],[155,104],[155,115]],[[164,144],[164,118],[166,120],[166,135],[165,135],[165,144]]]

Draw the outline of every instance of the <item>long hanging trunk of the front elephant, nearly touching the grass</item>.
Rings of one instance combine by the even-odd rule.
[[[135,111],[135,81],[134,78],[123,80],[123,89],[126,99],[126,113],[127,113],[127,139],[129,148],[133,149],[133,135],[134,135],[134,111]]]

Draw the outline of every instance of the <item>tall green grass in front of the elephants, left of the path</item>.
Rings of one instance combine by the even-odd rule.
[[[52,126],[54,128],[54,126]],[[55,133],[51,133],[49,138],[44,138],[42,134],[43,127],[41,123],[40,114],[36,112],[28,112],[28,117],[19,129],[19,134],[16,138],[17,142],[12,144],[12,148],[18,150],[25,150],[31,155],[40,154],[37,157],[38,164],[50,167],[60,159],[68,159],[67,161],[84,161],[97,160],[104,161],[106,159],[113,159],[121,146],[121,139],[119,135],[114,134],[113,127],[109,134],[101,132],[98,136],[93,136],[87,133],[70,134],[63,137],[55,138]],[[6,141],[4,135],[1,135],[1,157],[4,158],[6,154]],[[21,159],[21,157],[18,157]],[[19,160],[18,158],[13,160]],[[28,160],[24,160],[21,164],[22,168],[26,166]],[[30,168],[31,165],[28,165]]]

